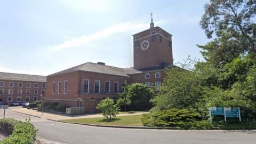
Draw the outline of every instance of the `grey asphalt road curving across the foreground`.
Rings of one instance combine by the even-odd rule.
[[[0,109],[3,116],[3,109]],[[6,117],[25,121],[29,116],[7,110]],[[31,117],[31,116],[30,116]],[[31,117],[38,136],[62,143],[256,143],[256,131],[177,131],[94,127]]]

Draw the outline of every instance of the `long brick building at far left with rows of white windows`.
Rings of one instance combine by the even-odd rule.
[[[34,102],[46,91],[46,76],[0,72],[0,102]]]

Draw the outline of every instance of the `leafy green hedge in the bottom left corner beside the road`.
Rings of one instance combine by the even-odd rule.
[[[36,140],[37,129],[30,123],[30,118],[26,119],[26,121],[27,122],[21,122],[12,118],[0,119],[0,131],[10,134],[9,137],[0,141],[0,143],[33,143]]]

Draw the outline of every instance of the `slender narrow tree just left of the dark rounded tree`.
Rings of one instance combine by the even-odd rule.
[[[117,104],[119,106],[124,106],[124,111],[126,111],[126,106],[131,105],[131,97],[128,94],[127,81],[125,80],[123,93],[120,94],[119,99],[117,100]]]

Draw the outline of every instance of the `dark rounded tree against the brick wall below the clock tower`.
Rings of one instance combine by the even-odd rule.
[[[147,110],[151,108],[150,99],[154,91],[145,84],[132,83],[128,86],[128,95],[131,98],[131,109]]]

